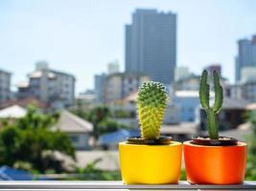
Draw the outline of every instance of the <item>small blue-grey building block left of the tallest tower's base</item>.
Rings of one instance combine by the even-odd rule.
[[[104,84],[106,79],[106,74],[96,74],[94,75],[94,91],[95,91],[95,102],[96,103],[104,103],[105,92],[104,92]]]

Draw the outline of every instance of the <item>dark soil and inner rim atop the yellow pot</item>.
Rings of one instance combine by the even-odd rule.
[[[167,145],[170,144],[171,141],[171,137],[160,137],[155,139],[146,139],[141,137],[127,138],[128,144]]]

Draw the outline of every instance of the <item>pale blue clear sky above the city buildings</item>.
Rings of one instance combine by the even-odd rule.
[[[35,62],[74,74],[76,92],[119,60],[124,70],[126,24],[135,9],[177,14],[177,66],[196,74],[211,63],[234,81],[237,41],[256,34],[255,0],[0,0],[0,69],[12,89]]]

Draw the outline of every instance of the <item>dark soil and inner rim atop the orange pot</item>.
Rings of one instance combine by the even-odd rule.
[[[220,137],[219,139],[211,139],[209,137],[198,137],[193,138],[191,143],[198,145],[207,145],[207,146],[231,146],[237,145],[238,140],[236,138],[226,138]]]

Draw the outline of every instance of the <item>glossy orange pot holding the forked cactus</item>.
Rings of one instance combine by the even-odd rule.
[[[184,142],[187,180],[197,184],[243,183],[246,166],[246,144],[204,146]]]

